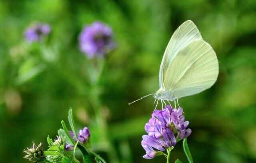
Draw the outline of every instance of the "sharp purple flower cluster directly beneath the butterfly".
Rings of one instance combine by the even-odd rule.
[[[178,141],[188,137],[191,134],[191,129],[186,129],[188,124],[182,108],[176,109],[167,105],[163,110],[155,110],[145,125],[148,135],[142,136],[141,144],[146,151],[143,158],[152,159],[162,155],[162,151],[174,147]]]

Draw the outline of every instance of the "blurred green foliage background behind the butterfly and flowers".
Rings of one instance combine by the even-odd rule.
[[[46,137],[57,135],[70,107],[109,163],[166,162],[142,158],[141,136],[154,99],[128,102],[158,90],[164,50],[185,20],[198,26],[220,65],[212,88],[179,100],[192,129],[194,161],[256,162],[255,19],[255,0],[1,0],[0,162],[28,162],[22,150],[32,141],[46,149]],[[116,48],[88,59],[78,36],[97,20],[112,28]],[[34,22],[52,30],[44,41],[28,43],[24,31]],[[182,143],[171,161],[177,158],[187,162]]]

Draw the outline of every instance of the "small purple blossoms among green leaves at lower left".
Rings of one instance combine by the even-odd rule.
[[[71,132],[71,131],[69,132],[69,134],[72,137],[72,139],[75,142],[77,142],[75,134],[73,132]],[[79,143],[86,144],[89,141],[89,138],[90,138],[90,131],[89,131],[89,129],[87,127],[84,127],[83,130],[79,130],[79,134],[77,134],[77,137],[78,137]],[[74,145],[70,145],[70,144],[66,143],[65,149],[67,151],[71,151],[71,150],[74,149]]]

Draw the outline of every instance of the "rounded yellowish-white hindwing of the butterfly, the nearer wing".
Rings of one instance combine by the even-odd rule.
[[[193,41],[170,63],[164,81],[167,90],[181,98],[210,88],[217,80],[218,60],[211,45],[203,39]]]

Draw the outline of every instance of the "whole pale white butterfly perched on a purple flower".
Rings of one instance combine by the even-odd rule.
[[[216,53],[204,41],[196,25],[187,20],[173,33],[164,52],[159,72],[160,89],[142,98],[154,95],[157,103],[176,99],[178,102],[179,98],[210,88],[218,73]]]

